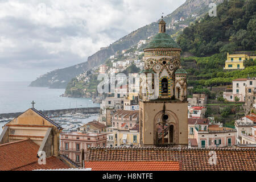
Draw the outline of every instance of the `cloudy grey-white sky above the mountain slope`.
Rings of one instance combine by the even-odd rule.
[[[33,81],[172,13],[185,0],[0,0],[0,81]]]

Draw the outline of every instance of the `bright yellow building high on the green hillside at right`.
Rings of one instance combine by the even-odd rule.
[[[224,69],[245,69],[244,61],[255,59],[256,56],[246,54],[227,55]]]

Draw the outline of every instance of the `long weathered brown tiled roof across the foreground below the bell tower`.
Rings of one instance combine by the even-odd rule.
[[[213,159],[210,152],[216,152],[216,164],[209,163]],[[93,147],[87,151],[86,161],[176,161],[184,171],[255,171],[256,148]]]

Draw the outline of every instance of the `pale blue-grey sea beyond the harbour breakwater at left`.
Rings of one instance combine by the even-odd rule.
[[[30,82],[0,82],[0,113],[26,111],[35,101],[37,110],[97,107],[91,98],[59,97],[65,89],[28,87]]]

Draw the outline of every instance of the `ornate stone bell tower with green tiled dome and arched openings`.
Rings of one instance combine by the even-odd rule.
[[[180,65],[180,46],[166,34],[163,16],[158,34],[143,51],[145,64],[141,74],[146,78],[152,75],[152,80],[146,79],[147,86],[141,84],[140,88],[141,146],[187,146],[187,72]]]

